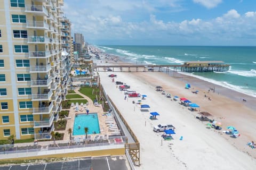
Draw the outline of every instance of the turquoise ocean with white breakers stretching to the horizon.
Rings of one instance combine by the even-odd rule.
[[[256,97],[256,47],[253,46],[95,46],[133,64],[183,64],[216,61],[230,64],[227,72],[183,73]]]

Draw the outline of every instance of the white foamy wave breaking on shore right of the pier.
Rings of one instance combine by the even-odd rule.
[[[195,77],[197,79],[201,79],[201,80],[204,80],[204,81],[207,81],[207,82],[210,82],[210,83],[213,83],[213,84],[217,84],[219,86],[222,86],[222,87],[225,87],[225,88],[228,88],[228,89],[231,89],[231,90],[235,90],[237,92],[241,92],[242,94],[245,94],[245,95],[256,97],[256,92],[253,91],[253,90],[247,89],[246,86],[236,86],[236,85],[230,84],[226,81],[216,81],[216,80],[213,80],[213,79],[204,78],[204,77],[201,77],[199,75],[195,75],[193,73],[180,72],[180,74],[189,75],[189,76]]]

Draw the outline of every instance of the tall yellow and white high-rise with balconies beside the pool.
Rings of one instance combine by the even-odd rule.
[[[62,45],[62,33],[71,32],[61,6],[63,0],[0,1],[0,139],[51,138],[69,83],[62,49],[73,54]]]

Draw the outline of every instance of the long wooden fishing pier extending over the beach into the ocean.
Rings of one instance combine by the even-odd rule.
[[[94,71],[113,72],[225,72],[229,64],[222,61],[190,61],[182,65],[94,65]]]

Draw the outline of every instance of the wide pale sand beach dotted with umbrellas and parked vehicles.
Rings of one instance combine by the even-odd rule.
[[[97,61],[98,64],[122,62]],[[149,112],[158,112],[158,119],[150,120],[149,112],[141,112],[140,105],[132,103],[141,98],[128,97],[125,100],[123,91],[116,88],[108,77],[111,73],[117,74],[115,81],[125,82],[132,90],[147,95],[142,104],[150,105]],[[256,166],[256,150],[246,145],[256,140],[256,116],[251,101],[255,98],[249,97],[246,102],[242,102],[241,99],[247,96],[238,93],[232,99],[224,95],[234,94],[230,89],[223,90],[214,84],[202,83],[202,80],[181,74],[170,76],[162,72],[99,72],[99,75],[107,94],[140,142],[141,166],[136,169],[254,169]],[[185,89],[186,83],[190,83],[190,89]],[[198,104],[200,107],[197,109],[211,113],[209,118],[220,122],[222,130],[226,130],[227,126],[235,126],[240,136],[231,138],[222,130],[206,128],[207,122],[196,118],[198,112],[191,112],[188,107],[180,105],[179,101],[166,98],[156,91],[156,86],[162,86],[166,94],[186,97]],[[210,88],[214,88],[214,92]],[[199,91],[198,94],[191,92],[195,90]],[[161,137],[163,132],[153,132],[153,126],[160,123],[175,126],[173,140],[165,141]],[[183,140],[179,140],[181,136]]]

